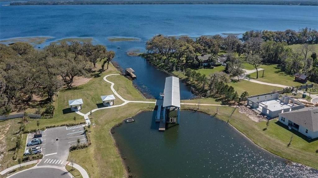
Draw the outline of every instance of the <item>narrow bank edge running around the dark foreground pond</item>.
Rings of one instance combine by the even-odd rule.
[[[231,106],[230,106],[230,107],[231,107]],[[194,109],[182,109],[182,110],[183,110],[183,111],[195,111],[195,112],[203,113],[203,114],[206,114],[206,115],[210,115],[209,113],[206,113],[206,112],[204,112],[204,111],[198,111],[198,110],[194,110]],[[135,117],[136,115],[138,115],[138,114],[140,114],[140,113],[142,113],[142,112],[150,112],[150,111],[140,110],[140,111],[137,112],[134,116],[128,117],[128,118],[133,118],[133,117]],[[217,116],[213,116],[213,115],[210,115],[210,116],[212,116],[212,117],[214,117],[214,118],[216,118],[216,119],[218,119],[218,120],[220,120],[220,121],[222,121],[222,122],[225,122],[224,120],[219,119]],[[128,118],[125,118],[125,119],[128,119]],[[115,145],[115,147],[116,147],[117,153],[119,154],[119,156],[120,156],[120,158],[121,158],[121,162],[122,162],[122,164],[123,164],[123,166],[124,166],[124,168],[125,168],[125,173],[129,173],[129,172],[128,172],[128,167],[129,167],[129,165],[128,165],[127,162],[125,162],[125,159],[122,158],[120,148],[116,146],[116,139],[114,138],[113,134],[111,133],[111,130],[112,130],[113,128],[115,128],[115,127],[120,127],[121,124],[122,124],[122,122],[124,122],[125,119],[123,119],[120,123],[115,124],[115,125],[110,129],[109,132],[110,132],[111,137],[112,137],[112,139],[113,139],[113,143],[114,143],[114,145]],[[225,123],[226,123],[226,122],[225,122]],[[118,124],[120,124],[120,125],[118,125]],[[302,164],[302,163],[299,163],[299,162],[294,162],[294,161],[292,161],[292,160],[289,160],[289,159],[287,159],[287,158],[285,158],[285,157],[283,157],[283,156],[277,155],[277,154],[275,154],[275,153],[273,153],[273,152],[271,152],[271,151],[269,151],[269,150],[267,150],[267,149],[265,149],[265,148],[259,146],[258,144],[256,144],[255,142],[253,142],[252,139],[250,139],[248,136],[246,136],[243,132],[241,132],[241,131],[239,131],[237,128],[235,128],[232,124],[230,124],[230,123],[227,123],[227,124],[229,124],[229,125],[231,126],[231,128],[233,128],[235,131],[237,131],[240,135],[242,135],[243,137],[245,137],[248,142],[251,142],[253,145],[255,145],[256,147],[258,147],[258,148],[260,148],[260,149],[262,149],[262,150],[264,150],[264,151],[266,151],[267,153],[273,154],[273,155],[278,156],[278,157],[280,157],[280,158],[282,158],[282,159],[285,159],[285,161],[290,161],[291,164],[298,164],[298,165],[301,165],[301,166],[306,167],[306,168],[311,168],[311,169],[318,170],[318,169],[313,168],[313,167],[310,167],[310,166],[308,166],[308,165],[305,165],[305,164]],[[285,162],[284,162],[284,163],[285,163]],[[286,164],[286,163],[285,163],[285,164]],[[128,176],[128,175],[129,175],[129,174],[126,174],[126,176]]]

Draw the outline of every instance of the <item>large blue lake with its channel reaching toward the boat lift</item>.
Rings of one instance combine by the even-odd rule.
[[[0,5],[9,4],[0,2]],[[143,58],[127,56],[145,50],[156,34],[171,36],[241,34],[248,30],[318,29],[317,6],[281,5],[27,5],[0,7],[0,39],[51,36],[38,45],[68,37],[92,37],[93,43],[114,50],[114,61],[132,67],[134,84],[143,93],[158,97],[168,75]],[[108,37],[136,37],[136,42],[110,42]],[[194,95],[181,83],[181,99]]]

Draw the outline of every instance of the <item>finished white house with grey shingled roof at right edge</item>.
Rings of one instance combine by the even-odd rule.
[[[279,114],[279,121],[308,138],[318,138],[318,107],[281,113]]]

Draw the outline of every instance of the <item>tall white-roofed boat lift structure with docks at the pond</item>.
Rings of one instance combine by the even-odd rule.
[[[163,100],[156,101],[158,107],[156,122],[160,122],[159,131],[164,131],[167,122],[180,124],[180,85],[178,77],[170,76],[166,78],[163,94],[160,94],[160,97]]]

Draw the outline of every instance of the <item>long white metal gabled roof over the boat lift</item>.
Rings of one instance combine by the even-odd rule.
[[[167,77],[163,90],[163,107],[175,106],[180,108],[180,86],[178,77]]]

